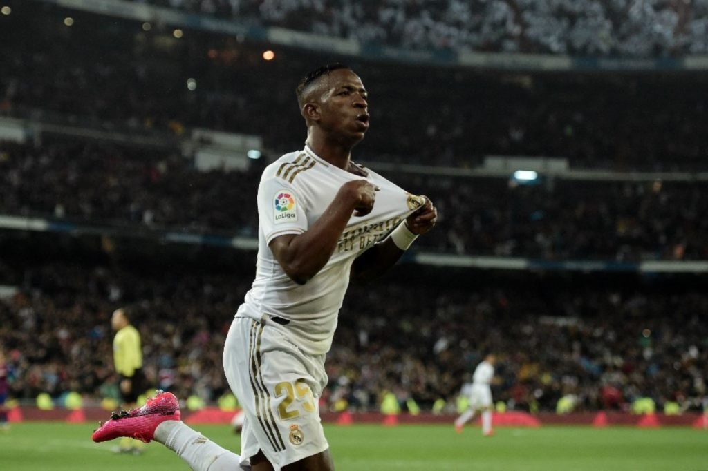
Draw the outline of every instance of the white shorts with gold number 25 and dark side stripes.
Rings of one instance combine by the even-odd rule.
[[[241,462],[262,450],[275,471],[329,448],[319,419],[325,356],[305,354],[283,328],[236,317],[224,344],[226,378],[245,413]]]

